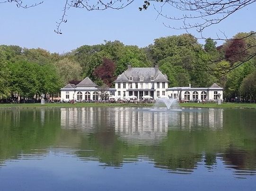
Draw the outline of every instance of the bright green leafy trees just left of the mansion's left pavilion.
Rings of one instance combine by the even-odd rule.
[[[59,91],[60,80],[51,65],[40,66],[24,60],[10,63],[10,89],[24,98]]]

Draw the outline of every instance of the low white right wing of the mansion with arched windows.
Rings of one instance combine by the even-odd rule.
[[[223,88],[213,83],[209,88],[174,87],[168,88],[168,97],[183,101],[223,100]]]

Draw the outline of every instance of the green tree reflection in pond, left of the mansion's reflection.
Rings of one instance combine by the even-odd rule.
[[[44,118],[42,118],[44,117]],[[51,109],[0,110],[0,161],[21,153],[46,152],[59,135],[60,113]]]

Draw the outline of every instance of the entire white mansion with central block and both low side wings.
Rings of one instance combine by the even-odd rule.
[[[88,77],[77,85],[67,84],[61,89],[62,101],[88,101],[100,100],[101,90]],[[223,88],[216,83],[209,88],[173,87],[168,88],[167,75],[163,75],[155,67],[131,67],[128,65],[126,71],[115,80],[115,88],[109,88],[108,97],[125,99],[128,96],[136,96],[142,99],[143,96],[151,96],[154,100],[159,97],[171,97],[178,100],[217,100],[218,94],[223,99]]]

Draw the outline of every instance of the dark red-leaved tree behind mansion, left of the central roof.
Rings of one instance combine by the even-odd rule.
[[[115,62],[110,59],[103,58],[102,65],[98,66],[94,75],[101,78],[104,83],[106,83],[109,87],[113,83],[115,79]]]

